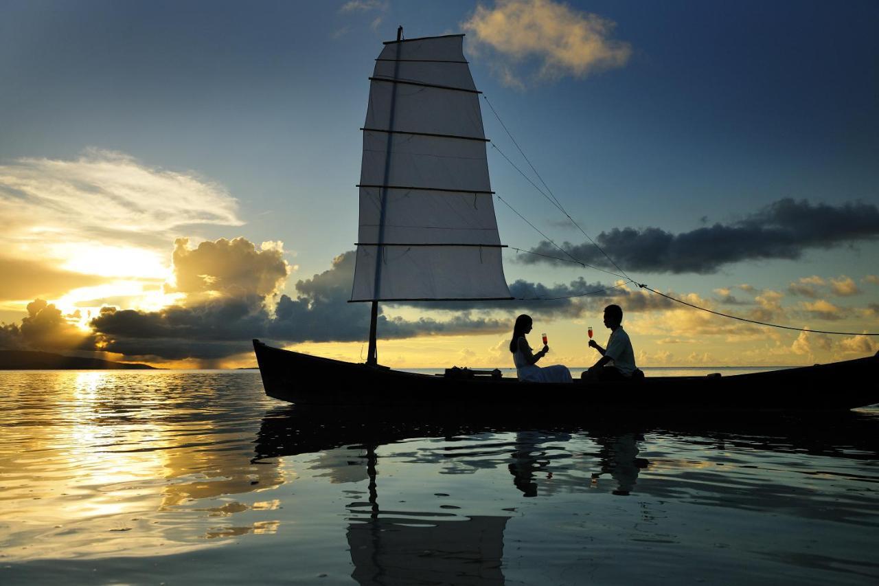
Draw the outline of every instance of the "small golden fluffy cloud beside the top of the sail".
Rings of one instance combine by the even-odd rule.
[[[525,65],[536,80],[583,78],[622,67],[632,54],[626,42],[611,39],[616,24],[552,0],[498,0],[476,6],[461,24],[474,49],[487,48],[505,84],[522,86],[516,68]],[[534,70],[536,68],[536,70]]]

